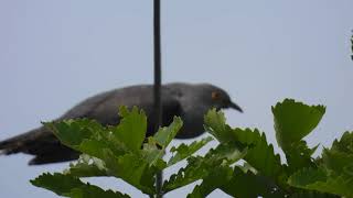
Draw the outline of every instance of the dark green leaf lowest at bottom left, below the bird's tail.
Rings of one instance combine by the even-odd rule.
[[[64,197],[74,197],[74,198],[95,198],[95,197],[106,197],[106,198],[127,198],[128,195],[113,191],[104,190],[97,186],[90,185],[89,183],[85,184],[78,178],[63,175],[63,174],[43,174],[35,179],[31,180],[32,185],[42,187],[53,193],[64,196]],[[60,185],[58,185],[60,184]]]

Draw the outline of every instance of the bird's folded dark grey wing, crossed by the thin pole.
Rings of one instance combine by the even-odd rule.
[[[148,132],[151,133],[156,123],[154,100],[151,86],[130,87],[106,92],[85,100],[65,113],[61,119],[89,118],[104,125],[119,123],[118,109],[120,106],[142,109],[148,118]],[[181,114],[179,100],[171,95],[169,89],[162,89],[162,125],[172,122],[174,116]]]

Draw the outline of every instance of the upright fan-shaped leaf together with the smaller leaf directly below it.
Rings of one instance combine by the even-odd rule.
[[[324,112],[323,106],[307,106],[291,99],[272,107],[276,138],[286,154],[289,174],[307,166],[315,167],[311,155],[319,145],[309,148],[303,138],[319,124]]]

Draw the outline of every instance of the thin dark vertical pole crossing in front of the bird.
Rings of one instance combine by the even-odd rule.
[[[161,105],[161,3],[160,0],[153,0],[153,48],[154,48],[154,117],[156,117],[156,128],[158,130],[161,125],[162,120],[162,105]],[[162,182],[163,173],[159,172],[156,175],[156,190],[157,197],[162,198]]]

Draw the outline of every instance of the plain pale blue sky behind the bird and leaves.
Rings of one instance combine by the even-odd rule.
[[[287,97],[327,105],[307,140],[328,146],[353,130],[352,8],[352,0],[163,1],[163,82],[223,87],[245,109],[226,111],[228,122],[259,128],[274,143],[270,106]],[[1,0],[0,140],[97,92],[152,82],[151,14],[147,0]],[[56,197],[29,179],[67,164],[29,167],[29,158],[0,157],[0,197]],[[94,183],[141,196],[114,179]]]

